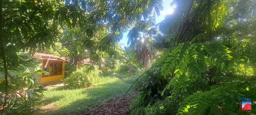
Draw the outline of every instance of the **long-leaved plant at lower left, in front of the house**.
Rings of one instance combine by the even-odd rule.
[[[17,53],[17,63],[8,66],[8,94],[5,95],[3,70],[0,69],[0,104],[7,97],[7,105],[3,114],[27,114],[34,108],[36,102],[43,96],[43,87],[34,78],[41,74],[40,63],[27,53]],[[2,68],[2,61],[0,61]]]

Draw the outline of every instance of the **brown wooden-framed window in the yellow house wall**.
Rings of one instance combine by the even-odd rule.
[[[46,62],[44,62],[44,65],[46,64]],[[62,75],[62,61],[49,61],[48,65],[46,68],[44,68],[44,71],[47,71],[49,73],[49,75],[46,75],[44,77],[47,76],[55,76],[55,75]],[[43,66],[44,66],[43,65]]]

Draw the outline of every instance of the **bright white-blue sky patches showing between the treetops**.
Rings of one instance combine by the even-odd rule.
[[[160,23],[162,20],[164,20],[166,15],[170,15],[174,11],[174,7],[170,6],[170,3],[172,2],[172,0],[162,0],[162,2],[163,2],[162,4],[163,10],[160,12],[160,16],[156,17],[156,24]],[[124,33],[123,38],[119,42],[119,44],[121,44],[122,47],[127,46],[127,41],[128,41],[127,34],[128,34],[128,31]]]

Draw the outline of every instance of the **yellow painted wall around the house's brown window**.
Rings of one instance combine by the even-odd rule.
[[[61,60],[61,59],[58,59],[58,60]],[[41,75],[40,83],[42,84],[42,83],[53,82],[53,81],[64,79],[64,75],[65,75],[65,73],[64,73],[64,66],[65,66],[65,61],[63,61],[62,75],[49,76],[49,77],[43,77],[43,75]],[[42,66],[42,69],[43,69],[43,66]]]

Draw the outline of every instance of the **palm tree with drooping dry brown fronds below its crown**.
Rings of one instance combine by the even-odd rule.
[[[154,27],[154,16],[154,20],[150,18],[149,21],[140,21],[128,32],[129,48],[135,51],[138,62],[145,65],[146,68],[152,59],[152,40],[157,34],[157,29]],[[143,32],[143,35],[141,35],[141,32]]]

